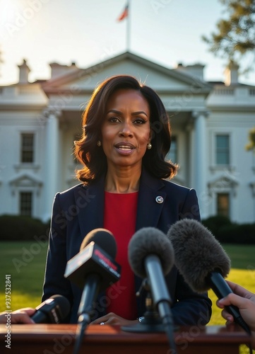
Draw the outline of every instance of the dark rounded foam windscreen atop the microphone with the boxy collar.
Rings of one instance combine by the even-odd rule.
[[[117,244],[112,232],[109,232],[109,230],[102,228],[93,229],[83,239],[80,251],[84,249],[85,246],[88,246],[88,244],[90,244],[90,242],[92,241],[95,242],[95,244],[97,244],[98,246],[100,246],[101,249],[103,249],[109,256],[111,256],[112,258],[116,257]]]

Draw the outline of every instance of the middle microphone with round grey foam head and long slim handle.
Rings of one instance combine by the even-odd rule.
[[[129,263],[136,275],[148,278],[153,304],[165,327],[170,348],[175,350],[172,336],[172,300],[167,290],[164,275],[170,272],[174,264],[172,244],[159,229],[144,227],[132,236],[128,247]]]

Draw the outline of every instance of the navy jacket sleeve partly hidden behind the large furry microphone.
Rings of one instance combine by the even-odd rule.
[[[189,190],[186,195],[182,210],[179,212],[179,219],[196,219],[201,221],[198,207],[198,199],[194,189]],[[187,260],[188,262],[189,260]],[[212,313],[212,302],[208,294],[198,294],[191,290],[186,284],[182,275],[177,273],[172,315],[174,323],[178,325],[206,325],[210,321]]]

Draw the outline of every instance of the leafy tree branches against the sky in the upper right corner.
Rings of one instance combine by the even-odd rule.
[[[218,23],[217,32],[202,39],[208,43],[210,52],[227,58],[229,63],[239,64],[248,54],[255,59],[255,0],[220,0],[226,6],[227,18]],[[245,71],[251,70],[251,64]]]

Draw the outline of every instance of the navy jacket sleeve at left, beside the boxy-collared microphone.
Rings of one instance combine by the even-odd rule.
[[[73,296],[69,280],[64,278],[66,270],[66,217],[59,204],[59,193],[55,195],[49,231],[49,247],[45,268],[42,301],[52,295],[63,295],[72,306]],[[68,319],[66,319],[68,321]]]

